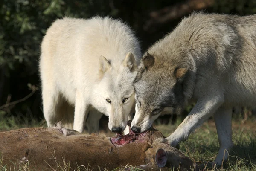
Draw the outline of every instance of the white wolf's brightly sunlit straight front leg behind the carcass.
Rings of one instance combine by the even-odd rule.
[[[84,98],[84,94],[76,92],[75,116],[73,129],[83,132],[85,119],[89,112],[89,100]]]

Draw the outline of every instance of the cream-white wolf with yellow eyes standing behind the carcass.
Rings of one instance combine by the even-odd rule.
[[[47,125],[53,126],[56,120],[74,122],[73,129],[82,132],[92,106],[96,110],[91,111],[109,116],[110,130],[123,131],[134,104],[133,81],[140,58],[134,32],[120,20],[56,20],[41,45],[40,72]],[[75,106],[74,117],[61,114],[65,100]]]

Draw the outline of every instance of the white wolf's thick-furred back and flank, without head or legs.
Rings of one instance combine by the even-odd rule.
[[[74,104],[77,88],[91,89],[103,55],[113,67],[122,65],[132,52],[139,59],[140,46],[131,29],[119,20],[93,17],[89,20],[63,18],[47,30],[42,46],[41,78],[54,82]],[[139,60],[137,60],[139,61]]]

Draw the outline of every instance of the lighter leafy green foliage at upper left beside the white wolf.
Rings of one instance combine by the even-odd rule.
[[[107,15],[105,1],[3,0],[0,8],[0,64],[15,70],[23,63],[28,75],[37,70],[43,35],[57,18]],[[97,12],[96,12],[97,11]]]

